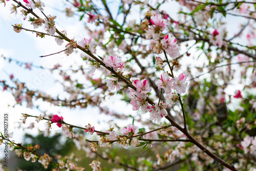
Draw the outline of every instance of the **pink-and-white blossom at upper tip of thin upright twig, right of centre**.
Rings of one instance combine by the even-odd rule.
[[[165,52],[173,59],[180,56],[180,52],[178,51],[180,47],[177,45],[177,39],[174,36],[167,34],[161,40],[161,44]]]

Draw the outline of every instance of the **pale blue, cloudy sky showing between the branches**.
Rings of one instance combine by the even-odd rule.
[[[56,25],[58,30],[67,30],[69,37],[75,37],[76,40],[80,40],[83,37],[87,37],[87,33],[84,31],[84,23],[79,22],[79,17],[75,16],[68,18],[61,11],[56,10],[55,7],[63,9],[65,7],[66,1],[52,1],[44,0],[45,8],[44,12],[46,14],[56,15]],[[170,7],[165,6],[163,10],[167,11],[169,14],[173,15],[173,18],[177,18],[176,13],[178,12],[177,3],[172,2],[172,11],[169,11]],[[64,53],[60,53],[54,56],[48,56],[40,58],[41,55],[48,55],[51,53],[56,53],[65,48],[66,44],[58,46],[54,41],[53,37],[46,37],[41,39],[35,36],[35,33],[27,32],[23,30],[20,33],[15,33],[11,25],[23,23],[23,27],[33,29],[29,22],[24,22],[20,14],[14,15],[10,14],[11,1],[7,2],[6,7],[4,4],[0,4],[0,55],[17,59],[23,62],[32,62],[33,65],[43,66],[46,68],[53,68],[56,63],[59,63],[62,66],[62,69],[68,68],[70,65],[75,65],[75,63],[81,63],[82,59],[79,57],[79,53],[73,53],[70,56],[66,56]],[[115,3],[110,8],[115,11]],[[37,11],[38,13],[38,11]],[[230,30],[229,34],[236,33],[239,29],[237,19],[238,17],[228,16],[227,19],[228,25],[227,29]],[[235,22],[236,21],[236,22]],[[243,23],[243,21],[241,21]],[[230,35],[231,36],[231,35]],[[187,61],[186,65],[190,65],[193,61]],[[4,61],[3,58],[0,58],[0,79],[8,80],[9,75],[14,74],[15,78],[18,78],[20,81],[30,83],[33,88],[37,90],[44,90],[48,94],[55,96],[61,90],[60,84],[56,83],[54,80],[59,78],[56,73],[50,74],[47,70],[33,68],[31,71],[25,69],[24,66],[20,67],[15,64],[15,62],[9,63]],[[85,78],[81,78],[85,79]],[[125,102],[119,102],[118,100],[107,99],[106,104],[112,106],[111,108],[120,113],[130,114],[132,110],[123,110],[127,109],[127,104]],[[9,132],[14,132],[15,142],[23,142],[24,131],[18,129],[20,123],[21,113],[27,113],[30,115],[38,116],[41,114],[41,111],[36,109],[28,109],[24,103],[23,106],[15,105],[15,108],[12,108],[12,105],[15,104],[15,100],[10,92],[0,91],[0,131],[3,130],[3,114],[9,113]],[[68,108],[60,108],[58,106],[49,105],[47,102],[37,102],[35,104],[40,105],[42,111],[48,110],[48,113],[62,115],[64,121],[69,121],[71,124],[76,124],[78,126],[85,126],[88,123],[96,125],[97,130],[104,130],[108,128],[108,124],[104,124],[103,120],[111,120],[110,116],[105,116],[103,114],[99,115],[99,111],[95,108],[89,106],[86,110],[76,109],[70,110]],[[10,106],[8,106],[10,105]],[[118,106],[118,108],[117,108]],[[103,116],[103,117],[102,117]],[[94,118],[101,118],[101,123],[98,123]],[[30,122],[34,121],[34,118],[27,119],[26,124],[22,124],[23,127],[28,127]],[[45,130],[45,121],[40,121],[37,124],[40,130]],[[121,123],[127,123],[126,121],[120,121]],[[120,124],[121,124],[120,123]],[[61,132],[57,126],[52,125],[53,132]],[[3,132],[3,131],[2,131]],[[36,135],[38,133],[37,129],[34,128],[30,133]],[[0,151],[2,151],[3,146],[0,146]],[[2,154],[2,153],[0,153]],[[1,156],[1,155],[0,155]]]

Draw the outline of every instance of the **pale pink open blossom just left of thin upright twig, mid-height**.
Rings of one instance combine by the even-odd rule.
[[[162,73],[161,80],[157,80],[158,89],[164,89],[165,93],[172,92],[173,78],[170,78],[167,73]]]

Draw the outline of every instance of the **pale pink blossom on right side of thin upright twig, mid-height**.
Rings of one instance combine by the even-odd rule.
[[[183,75],[182,73],[177,77],[174,77],[174,84],[173,88],[176,90],[177,93],[185,93],[187,82],[186,82],[187,76]]]

